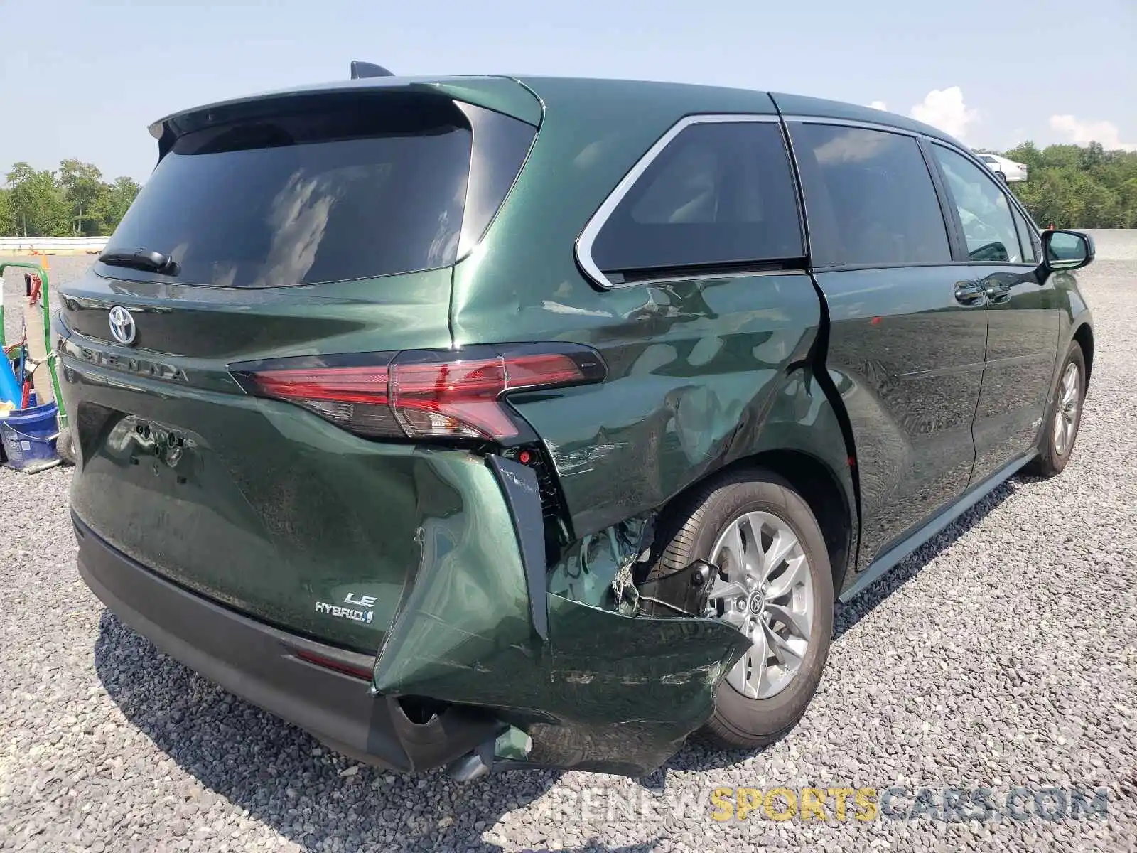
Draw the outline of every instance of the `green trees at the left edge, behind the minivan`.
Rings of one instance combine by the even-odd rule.
[[[130,177],[107,183],[90,163],[60,160],[58,169],[17,163],[0,187],[0,235],[106,237],[139,194]]]

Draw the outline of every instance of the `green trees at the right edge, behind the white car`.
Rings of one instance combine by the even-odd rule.
[[[1137,227],[1137,151],[1023,142],[1003,156],[1029,167],[1010,187],[1043,227]]]

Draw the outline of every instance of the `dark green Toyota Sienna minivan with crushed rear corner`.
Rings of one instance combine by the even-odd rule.
[[[766,744],[837,601],[1073,449],[1093,242],[910,118],[374,76],[150,132],[55,321],[78,569],[347,755]]]

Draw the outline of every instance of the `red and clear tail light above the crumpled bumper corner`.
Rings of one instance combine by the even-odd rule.
[[[573,345],[284,358],[231,372],[246,392],[302,406],[358,436],[504,442],[529,438],[506,395],[607,373],[599,354]]]

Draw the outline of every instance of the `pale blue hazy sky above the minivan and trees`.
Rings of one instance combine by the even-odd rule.
[[[346,78],[352,59],[792,92],[977,148],[1137,150],[1137,0],[0,0],[0,176],[77,157],[143,181],[156,118]]]

